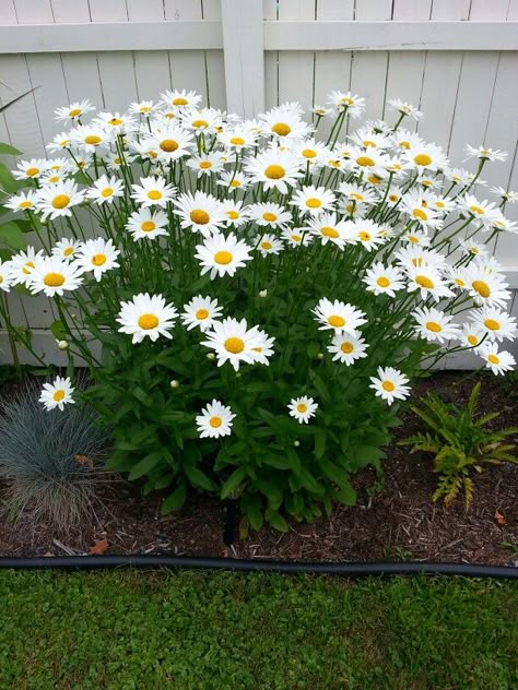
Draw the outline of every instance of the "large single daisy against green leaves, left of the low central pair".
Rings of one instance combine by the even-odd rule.
[[[149,337],[153,343],[163,335],[172,338],[169,331],[174,328],[178,312],[173,305],[166,305],[162,295],[140,293],[129,301],[120,302],[117,322],[119,333],[132,335],[132,343],[141,343]]]

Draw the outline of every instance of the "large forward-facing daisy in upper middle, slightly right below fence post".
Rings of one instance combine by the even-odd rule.
[[[290,151],[274,147],[248,158],[245,170],[251,182],[262,182],[264,189],[278,189],[281,194],[295,187],[302,175],[297,157]]]

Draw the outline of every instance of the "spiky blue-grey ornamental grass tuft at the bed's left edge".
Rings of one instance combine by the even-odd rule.
[[[0,403],[0,478],[14,519],[50,523],[61,531],[90,519],[98,498],[108,431],[90,406],[47,412],[39,388],[25,386]]]

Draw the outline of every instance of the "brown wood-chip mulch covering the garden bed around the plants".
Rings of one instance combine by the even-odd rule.
[[[461,404],[478,380],[467,372],[440,372],[423,380],[415,397],[434,391]],[[518,385],[502,378],[481,377],[481,409],[499,411],[498,426],[518,426]],[[414,433],[419,419],[408,412],[398,438]],[[518,439],[517,439],[518,441]],[[162,554],[269,558],[311,561],[432,560],[518,564],[518,466],[488,466],[475,478],[471,508],[462,498],[445,508],[434,504],[436,475],[429,456],[410,455],[391,445],[385,461],[385,485],[374,493],[374,473],[353,479],[358,502],[337,507],[314,524],[292,522],[286,534],[269,528],[250,532],[226,546],[224,508],[195,497],[179,514],[160,516],[160,497],[143,499],[134,484],[116,481],[104,490],[104,505],[92,524],[72,534],[45,526],[13,525],[0,515],[0,556],[87,554],[96,539],[108,554]],[[1,493],[0,493],[1,501]],[[243,535],[242,535],[243,537]]]

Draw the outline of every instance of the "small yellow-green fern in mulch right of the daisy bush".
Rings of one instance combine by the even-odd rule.
[[[446,505],[460,491],[464,493],[466,507],[470,505],[473,475],[483,472],[483,465],[503,462],[518,464],[518,459],[511,454],[516,443],[508,442],[510,437],[518,433],[518,428],[487,428],[487,424],[499,413],[476,415],[480,388],[480,383],[473,388],[463,409],[445,403],[437,395],[428,395],[422,401],[422,407],[411,405],[429,430],[400,441],[400,445],[412,445],[411,453],[423,451],[435,455],[434,472],[439,477],[433,500],[443,498]]]

